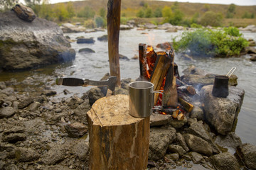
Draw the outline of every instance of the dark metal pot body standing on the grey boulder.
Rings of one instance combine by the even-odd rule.
[[[227,76],[215,76],[212,94],[215,97],[225,98],[228,96],[228,80]]]

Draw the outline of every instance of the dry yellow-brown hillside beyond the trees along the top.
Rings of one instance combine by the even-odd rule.
[[[127,13],[129,16],[136,16],[136,12],[139,11],[139,8],[142,8],[140,5],[143,1],[137,0],[122,0],[122,13]],[[152,9],[154,8],[163,8],[164,6],[172,6],[174,2],[170,1],[150,1],[146,0],[144,3],[148,4]],[[229,5],[223,4],[207,4],[210,6],[210,11],[223,13],[225,16],[228,11]],[[73,6],[75,11],[79,11],[84,6],[90,6],[95,11],[100,10],[100,8],[107,8],[107,0],[87,0],[87,1],[73,1]],[[199,3],[182,3],[178,2],[179,9],[185,14],[185,16],[193,16],[194,13],[203,14],[206,12],[206,4]],[[241,18],[242,15],[247,11],[248,13],[256,14],[256,6],[235,6],[235,16],[234,18]]]

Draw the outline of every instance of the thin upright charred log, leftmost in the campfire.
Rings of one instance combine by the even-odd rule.
[[[139,72],[140,78],[147,79],[148,75],[146,74],[146,44],[139,44]]]

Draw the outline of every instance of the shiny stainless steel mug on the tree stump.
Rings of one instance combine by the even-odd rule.
[[[146,118],[151,115],[152,109],[160,110],[161,106],[154,107],[154,84],[149,81],[134,81],[129,84],[129,114],[136,118]]]

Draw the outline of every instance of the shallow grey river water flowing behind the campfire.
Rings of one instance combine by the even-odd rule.
[[[172,38],[181,35],[182,31],[178,33],[166,33],[165,30],[121,30],[119,34],[119,53],[127,56],[129,59],[134,55],[139,55],[139,43],[146,43],[146,45],[153,45],[155,51],[158,43],[171,41]],[[110,72],[107,52],[107,42],[100,42],[97,40],[102,35],[107,35],[105,32],[95,33],[68,33],[72,40],[79,36],[85,38],[94,38],[95,43],[77,44],[72,42],[71,45],[76,52],[76,58],[73,62],[65,64],[55,64],[41,69],[34,69],[29,72],[18,73],[0,73],[0,80],[16,79],[23,81],[26,77],[33,77],[40,79],[47,84],[53,84],[55,75],[65,77],[78,77],[86,79],[101,79],[105,73]],[[256,40],[256,33],[243,33],[246,39],[252,38]],[[91,48],[95,53],[85,54],[78,53],[81,48]],[[193,64],[200,69],[204,69],[206,73],[213,74],[227,74],[231,67],[237,67],[235,75],[238,76],[238,87],[245,89],[245,98],[242,104],[241,111],[238,115],[238,123],[235,133],[241,138],[242,142],[249,142],[256,145],[256,62],[250,62],[250,56],[231,58],[201,58],[194,61],[183,60],[178,55],[175,56],[175,62],[178,64],[178,71],[182,75],[183,69]],[[120,60],[121,79],[139,77],[139,60]],[[40,84],[38,84],[40,86]],[[68,86],[52,86],[53,90],[57,91],[55,97],[68,97],[63,94],[64,89],[72,92],[70,95],[82,96],[82,93],[90,89],[90,87],[68,87]],[[69,96],[70,96],[69,95]]]

